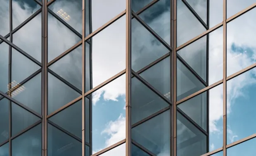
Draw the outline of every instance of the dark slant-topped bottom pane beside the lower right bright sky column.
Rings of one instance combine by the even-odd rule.
[[[177,156],[201,156],[206,145],[206,135],[177,112]]]

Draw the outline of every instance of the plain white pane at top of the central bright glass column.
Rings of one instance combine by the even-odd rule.
[[[92,0],[91,1],[91,30],[94,32],[112,18],[126,9],[126,0]],[[120,27],[120,26],[119,26]],[[122,28],[115,30],[120,30]]]

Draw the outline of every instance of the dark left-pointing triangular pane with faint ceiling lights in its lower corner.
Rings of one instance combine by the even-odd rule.
[[[154,74],[152,74],[154,73]],[[168,99],[170,96],[170,57],[150,67],[140,74],[148,83],[161,92]]]

